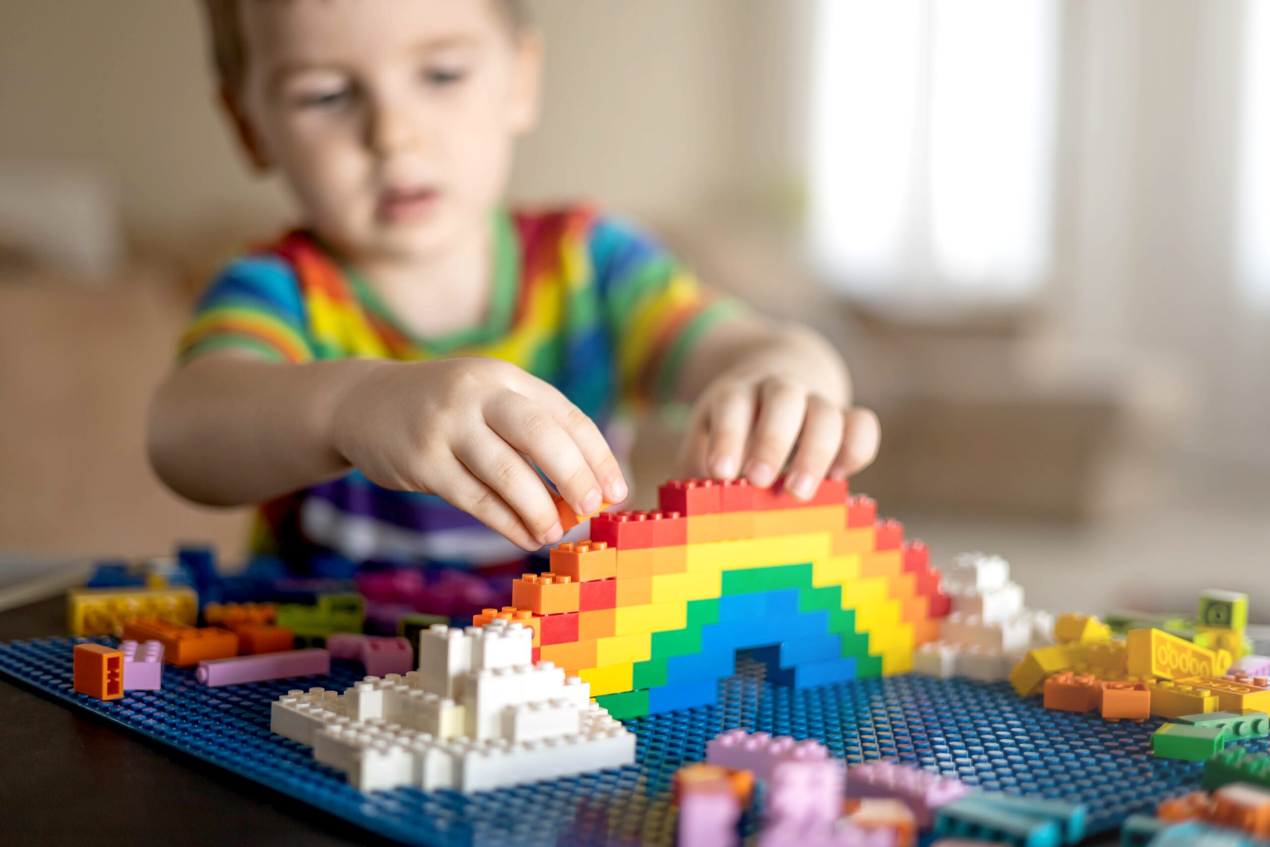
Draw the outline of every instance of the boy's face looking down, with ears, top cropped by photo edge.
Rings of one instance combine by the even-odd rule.
[[[253,159],[281,169],[354,258],[443,251],[488,225],[537,114],[538,48],[493,0],[248,0],[229,98]]]

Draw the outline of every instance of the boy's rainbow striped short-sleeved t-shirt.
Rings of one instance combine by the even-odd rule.
[[[222,348],[297,364],[488,356],[555,385],[613,443],[625,413],[664,397],[693,339],[735,307],[648,236],[588,208],[500,211],[493,227],[494,292],[480,326],[413,335],[354,268],[295,231],[221,272],[182,337],[180,358]],[[525,557],[439,498],[384,489],[357,471],[264,503],[251,546],[298,565],[330,552],[465,568]]]

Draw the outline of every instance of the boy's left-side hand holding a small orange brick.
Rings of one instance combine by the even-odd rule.
[[[502,359],[372,367],[335,406],[330,443],[371,481],[436,494],[526,550],[564,533],[530,461],[578,514],[627,495],[594,422]]]

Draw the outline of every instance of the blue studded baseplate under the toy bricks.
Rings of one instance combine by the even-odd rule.
[[[224,688],[168,665],[163,690],[103,702],[71,691],[71,651],[90,640],[113,644],[0,644],[0,673],[371,832],[425,847],[673,844],[672,775],[705,758],[706,742],[735,726],[814,738],[848,763],[898,758],[992,791],[1083,803],[1091,834],[1198,787],[1203,772],[1198,762],[1151,756],[1158,720],[1111,724],[1048,711],[1005,683],[966,679],[900,676],[795,691],[773,687],[765,665],[742,655],[737,676],[719,683],[721,705],[627,721],[639,737],[636,766],[471,796],[417,789],[366,795],[307,748],[269,731],[269,704],[279,695],[315,686],[343,691],[361,678],[359,665],[337,662],[326,677]],[[747,819],[747,829],[754,825]]]

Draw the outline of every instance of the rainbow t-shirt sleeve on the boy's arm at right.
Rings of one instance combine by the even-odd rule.
[[[612,218],[596,222],[591,253],[624,396],[667,400],[696,340],[740,302],[710,291],[653,237]]]

